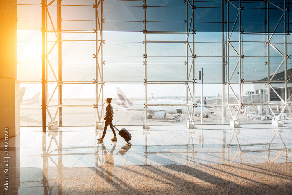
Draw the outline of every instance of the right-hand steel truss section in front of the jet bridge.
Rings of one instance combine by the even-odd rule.
[[[233,2],[236,2],[236,1],[233,1]],[[289,106],[289,103],[287,102],[287,83],[288,83],[288,80],[287,80],[287,59],[290,58],[288,55],[287,55],[287,35],[289,34],[289,32],[287,32],[286,30],[286,25],[287,25],[287,21],[286,21],[286,13],[288,10],[288,8],[286,7],[286,0],[283,0],[284,2],[284,8],[281,8],[277,5],[275,5],[274,3],[272,3],[270,0],[268,1],[265,1],[265,4],[267,6],[267,29],[268,31],[266,33],[248,33],[248,32],[244,32],[243,29],[242,29],[242,13],[244,11],[244,7],[241,5],[241,2],[242,0],[239,0],[238,1],[238,5],[239,6],[236,6],[234,3],[233,3],[231,0],[228,0],[228,1],[225,1],[225,4],[226,5],[226,8],[227,8],[227,30],[228,30],[228,40],[227,40],[227,80],[226,80],[226,85],[227,85],[227,107],[230,111],[230,114],[232,115],[232,120],[233,122],[237,121],[237,118],[238,118],[238,114],[240,112],[240,109],[238,109],[236,115],[233,115],[232,111],[231,111],[231,108],[230,106],[239,106],[239,107],[244,107],[244,106],[248,106],[248,105],[253,105],[253,106],[257,106],[257,105],[263,105],[263,103],[244,103],[242,101],[242,86],[245,82],[256,82],[256,83],[262,83],[262,84],[265,84],[267,85],[267,102],[264,103],[264,105],[267,105],[272,114],[274,115],[274,118],[278,121],[281,119],[281,115],[284,113],[285,109],[287,108],[287,106]],[[259,2],[259,3],[263,3],[263,2]],[[229,6],[231,6],[232,8],[236,8],[238,10],[238,14],[237,14],[237,17],[235,18],[235,21],[234,23],[231,23],[230,22],[230,17],[229,17]],[[277,26],[275,27],[275,29],[273,30],[273,32],[270,32],[270,26],[269,26],[269,9],[270,9],[270,6],[273,6],[274,8],[278,8],[280,9],[281,11],[283,11],[283,14],[281,15],[280,19],[279,19],[279,22],[277,23]],[[279,23],[281,22],[282,18],[284,17],[284,33],[277,33],[275,34],[278,26],[279,26]],[[232,33],[234,33],[234,27],[237,23],[237,21],[239,20],[239,41],[230,41],[230,38],[231,38],[231,35]],[[232,30],[231,32],[229,32],[229,25],[232,25]],[[267,41],[264,41],[264,42],[259,42],[259,41],[242,41],[242,38],[244,35],[266,35],[267,36]],[[282,35],[284,36],[284,54],[282,54],[279,49],[277,49],[276,46],[274,46],[270,41],[272,39],[272,36],[273,35]],[[238,43],[239,44],[239,51],[237,51],[234,46],[232,45],[233,43]],[[244,54],[242,52],[242,43],[262,43],[262,44],[265,44],[266,47],[267,47],[267,80],[266,81],[246,81],[242,78],[243,76],[243,72],[242,72],[242,59],[244,58]],[[275,49],[282,57],[283,57],[283,61],[280,63],[279,67],[277,68],[277,70],[274,72],[273,76],[271,77],[270,76],[270,46]],[[230,55],[229,55],[229,51],[230,51],[230,48],[232,50],[234,50],[234,52],[236,53],[236,55],[239,57],[238,58],[238,61],[235,65],[235,68],[233,69],[232,71],[232,74],[230,76]],[[271,82],[275,82],[273,81],[273,78],[274,76],[276,75],[277,71],[279,70],[279,68],[283,65],[284,63],[284,80],[283,81],[279,81],[279,82],[284,82],[284,85],[285,85],[285,97],[284,99],[276,92],[276,90],[272,87],[271,85]],[[238,96],[234,93],[234,90],[232,89],[231,87],[231,80],[232,80],[232,76],[234,75],[235,73],[235,70],[236,68],[239,66],[239,98]],[[276,81],[277,82],[277,81]],[[279,99],[281,99],[282,103],[270,103],[270,88],[276,93],[276,95],[279,97]],[[235,99],[237,100],[237,103],[230,103],[230,90],[232,92],[232,94],[234,95]],[[275,113],[272,111],[272,108],[271,106],[272,105],[284,105],[284,108],[281,110],[281,113],[279,116],[276,116]],[[231,122],[231,120],[230,120]]]

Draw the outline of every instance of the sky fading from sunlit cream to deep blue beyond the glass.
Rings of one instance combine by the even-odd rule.
[[[20,87],[27,87],[24,98],[31,97],[35,93],[41,91],[41,7],[38,0],[18,1],[18,4],[35,4],[35,5],[18,5],[18,80],[21,81]],[[62,30],[92,30],[94,27],[94,9],[92,8],[92,0],[77,1],[64,0],[62,1]],[[159,3],[167,2],[165,6],[160,6]],[[185,20],[185,8],[171,8],[171,6],[181,6],[182,2],[175,1],[157,1],[149,2],[150,7],[147,11],[147,30],[166,31],[183,31],[185,24],[181,24]],[[211,3],[210,3],[211,2]],[[198,27],[202,23],[199,22],[218,22],[220,17],[213,17],[220,13],[220,4],[218,1],[210,1],[201,5],[196,14],[196,23]],[[127,92],[129,97],[144,97],[143,79],[145,77],[144,62],[144,34],[143,18],[144,11],[141,7],[123,7],[123,5],[139,5],[139,1],[105,1],[108,6],[104,10],[105,32],[104,35],[104,81],[105,96],[117,97],[116,87],[121,87]],[[212,4],[213,3],[213,4]],[[56,27],[56,6],[49,7],[50,15]],[[91,5],[91,6],[72,6],[72,5]],[[112,6],[114,5],[114,6]],[[214,5],[214,6],[213,6]],[[208,8],[210,6],[210,8]],[[253,5],[251,5],[253,6]],[[198,4],[199,7],[199,4]],[[212,10],[213,9],[213,10]],[[207,11],[208,12],[207,12]],[[205,11],[205,15],[201,14]],[[259,11],[259,14],[262,10]],[[173,14],[175,12],[175,14]],[[163,14],[162,14],[163,13]],[[204,15],[204,17],[202,17]],[[201,18],[200,18],[201,17]],[[246,17],[247,20],[248,17]],[[277,18],[277,15],[275,16]],[[190,17],[189,17],[190,19]],[[84,20],[84,21],[69,21],[69,20]],[[113,21],[116,20],[116,21]],[[156,22],[155,22],[156,21]],[[158,21],[163,21],[162,23]],[[169,22],[171,21],[171,23]],[[219,21],[220,22],[220,21]],[[207,23],[205,23],[207,25]],[[218,23],[220,24],[220,23]],[[215,29],[219,26],[216,23]],[[208,25],[210,25],[208,23]],[[201,27],[203,28],[203,27]],[[251,25],[252,28],[252,25]],[[53,30],[51,25],[48,25],[49,30]],[[131,31],[117,31],[131,30]],[[197,32],[195,34],[195,51],[197,55],[195,59],[195,78],[198,80],[198,72],[201,68],[204,69],[204,96],[217,96],[221,94],[221,32]],[[238,33],[233,33],[230,41],[237,41]],[[95,76],[95,43],[94,42],[79,42],[78,40],[94,40],[93,33],[62,33],[62,39],[73,40],[64,41],[62,43],[62,78],[67,81],[92,81]],[[100,36],[98,36],[100,39]],[[225,33],[225,41],[227,34]],[[266,36],[263,35],[246,35],[243,40],[261,40],[264,41]],[[147,34],[148,41],[168,40],[173,42],[147,42],[147,79],[148,81],[183,81],[186,78],[186,52],[188,51],[188,68],[190,69],[192,57],[190,49],[186,49],[183,42],[186,40],[186,35],[182,34]],[[48,48],[55,43],[56,37],[54,33],[48,33]],[[189,36],[189,42],[192,43],[192,35]],[[271,42],[284,53],[283,37],[273,36]],[[239,45],[233,43],[232,46],[238,52]],[[292,47],[291,47],[292,48]],[[243,54],[243,78],[245,80],[260,80],[266,77],[266,46],[261,44],[242,45]],[[226,53],[226,45],[225,45]],[[57,73],[57,49],[52,50],[48,57],[53,70]],[[230,74],[238,60],[236,53],[230,48]],[[270,50],[271,72],[275,71],[282,61],[282,57],[274,49]],[[101,58],[98,58],[99,62]],[[227,60],[225,60],[227,61]],[[225,68],[226,70],[226,68]],[[279,69],[283,71],[283,67]],[[227,70],[226,70],[227,71]],[[239,68],[235,70],[233,76],[234,81],[239,80]],[[192,74],[190,74],[192,78]],[[50,68],[48,69],[48,80],[54,81],[55,78]],[[99,78],[100,80],[100,78]],[[27,81],[27,82],[24,82]],[[109,81],[115,81],[115,84],[110,84]],[[119,81],[124,81],[121,84]],[[134,84],[139,82],[140,84]],[[36,84],[38,83],[38,84]],[[112,82],[113,83],[113,82]],[[117,84],[118,83],[118,84]],[[129,88],[131,86],[131,89]],[[48,92],[53,93],[55,84],[50,84]],[[179,90],[177,90],[179,88]],[[190,84],[192,89],[192,84]],[[181,84],[148,84],[147,96],[153,92],[155,96],[170,96],[176,91],[178,96],[185,96],[185,85]],[[245,91],[253,90],[253,84],[244,84]],[[63,98],[70,98],[75,94],[74,98],[95,97],[95,86],[93,84],[85,84],[82,87],[79,84],[63,85]],[[239,93],[238,84],[234,86],[234,92]],[[201,84],[197,81],[195,84],[195,94],[200,96]],[[54,96],[57,97],[57,96]]]

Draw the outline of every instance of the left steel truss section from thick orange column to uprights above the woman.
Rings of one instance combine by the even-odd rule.
[[[53,20],[51,18],[48,7],[51,6],[55,1],[57,1],[57,29],[53,24]],[[104,106],[103,100],[103,1],[95,0],[95,4],[93,4],[93,8],[95,9],[95,29],[93,31],[62,31],[62,0],[51,0],[48,3],[47,0],[41,1],[42,7],[42,127],[43,132],[46,132],[46,111],[51,119],[50,122],[54,123],[56,121],[56,117],[59,113],[59,125],[62,126],[62,107],[72,107],[72,106],[90,106],[96,108],[98,114],[97,124],[102,124],[102,112]],[[99,15],[100,14],[100,15]],[[48,30],[48,19],[49,24],[52,26],[53,31]],[[56,36],[56,41],[53,46],[48,50],[48,33],[54,33]],[[93,81],[62,81],[62,42],[68,41],[77,41],[77,40],[64,40],[62,39],[62,33],[95,33],[95,40],[80,40],[82,41],[90,41],[95,42],[95,54],[93,54],[93,58],[95,58],[95,79]],[[98,40],[98,36],[100,34],[100,40]],[[53,70],[52,64],[49,60],[49,56],[55,47],[58,47],[58,58],[56,63],[58,63],[58,72],[57,74]],[[98,60],[101,58],[101,61]],[[50,69],[48,69],[48,67]],[[53,76],[55,77],[55,81],[48,81],[48,71],[51,71]],[[98,81],[98,76],[100,76],[100,81]],[[48,83],[56,83],[55,89],[50,97],[48,97]],[[63,105],[62,104],[62,85],[63,84],[95,84],[96,87],[96,102],[94,105]],[[98,87],[100,89],[98,90]],[[58,104],[57,105],[49,105],[51,99],[55,92],[58,91]],[[101,104],[99,101],[101,100]],[[44,106],[45,105],[45,106]],[[49,107],[57,107],[54,117],[52,117]]]

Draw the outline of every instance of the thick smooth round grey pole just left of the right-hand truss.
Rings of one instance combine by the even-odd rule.
[[[221,55],[222,55],[222,112],[221,112],[221,124],[226,124],[226,106],[225,106],[225,42],[224,42],[224,1],[221,2],[221,20],[222,20],[222,40],[221,40]]]

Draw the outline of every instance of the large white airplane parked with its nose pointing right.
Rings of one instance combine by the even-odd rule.
[[[125,94],[122,92],[122,90],[117,87],[117,94],[120,99],[120,102],[116,102],[117,105],[121,105],[124,108],[127,108],[128,110],[137,110],[137,111],[143,111],[144,109],[144,103],[145,101],[142,100],[133,100],[130,101],[126,98]],[[186,101],[184,100],[168,100],[168,99],[160,99],[157,100],[154,95],[151,93],[151,101],[148,101],[148,108],[147,113],[149,113],[147,118],[152,118],[154,116],[155,118],[166,118],[166,114],[187,114],[187,106],[165,106],[167,104],[182,104],[185,105]],[[161,104],[164,106],[151,106],[151,104]],[[190,113],[192,113],[192,106],[189,106]],[[209,112],[209,109],[206,107],[203,107],[203,113],[206,114]],[[197,107],[194,110],[194,114],[201,114],[201,104],[197,103]]]

